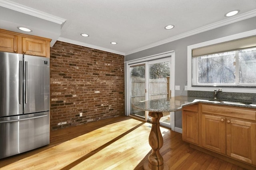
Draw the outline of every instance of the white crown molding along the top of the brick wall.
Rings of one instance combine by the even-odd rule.
[[[118,54],[118,55],[124,55],[124,53],[120,52],[120,51],[115,51],[115,50],[112,50],[112,49],[107,49],[107,48],[99,47],[99,46],[96,46],[96,45],[82,43],[80,41],[74,41],[72,39],[66,39],[66,38],[63,38],[63,37],[59,37],[58,41],[62,41],[62,42],[65,42],[65,43],[70,43],[70,44],[75,44],[75,45],[80,45],[80,46],[88,47],[88,48],[91,48],[91,49],[97,49],[97,50],[101,50],[101,51],[106,51],[106,52],[114,53],[114,54]]]

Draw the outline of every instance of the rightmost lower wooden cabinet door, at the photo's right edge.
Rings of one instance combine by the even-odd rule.
[[[227,120],[227,155],[256,165],[256,123]]]

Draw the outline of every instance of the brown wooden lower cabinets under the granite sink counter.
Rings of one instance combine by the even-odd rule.
[[[256,109],[201,103],[198,108],[182,109],[183,140],[256,166]]]

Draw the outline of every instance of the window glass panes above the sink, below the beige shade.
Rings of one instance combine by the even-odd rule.
[[[256,86],[256,48],[192,58],[192,86]]]

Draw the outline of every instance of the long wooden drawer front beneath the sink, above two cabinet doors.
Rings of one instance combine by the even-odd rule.
[[[256,109],[202,104],[202,113],[256,121]]]

